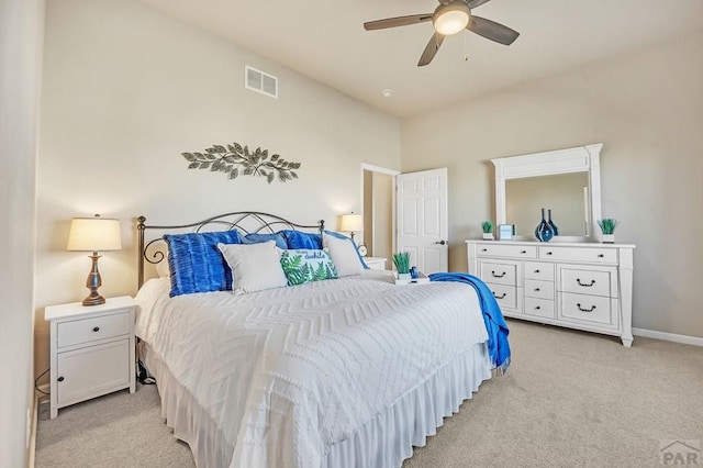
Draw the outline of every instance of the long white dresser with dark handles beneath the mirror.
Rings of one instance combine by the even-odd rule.
[[[466,241],[469,272],[505,316],[620,336],[632,334],[634,245]]]

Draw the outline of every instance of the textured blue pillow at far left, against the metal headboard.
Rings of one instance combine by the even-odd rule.
[[[232,271],[217,244],[239,244],[236,230],[214,233],[166,234],[170,297],[232,289]]]

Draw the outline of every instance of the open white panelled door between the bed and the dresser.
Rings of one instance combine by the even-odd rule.
[[[447,168],[397,177],[398,252],[425,275],[447,271]]]

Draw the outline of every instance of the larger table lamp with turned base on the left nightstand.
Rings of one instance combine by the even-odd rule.
[[[67,250],[92,252],[89,258],[92,259],[92,268],[86,280],[86,288],[90,294],[83,299],[83,305],[104,304],[105,298],[98,293],[98,288],[102,286],[100,271],[98,271],[98,252],[119,250],[122,248],[120,235],[120,221],[108,218],[74,218],[70,222],[70,233],[68,234]]]

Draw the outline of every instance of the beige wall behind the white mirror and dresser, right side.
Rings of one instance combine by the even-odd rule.
[[[464,239],[494,218],[491,158],[604,143],[603,216],[637,245],[634,326],[703,337],[701,44],[682,37],[403,121],[403,171],[449,168],[450,269],[467,269]]]

